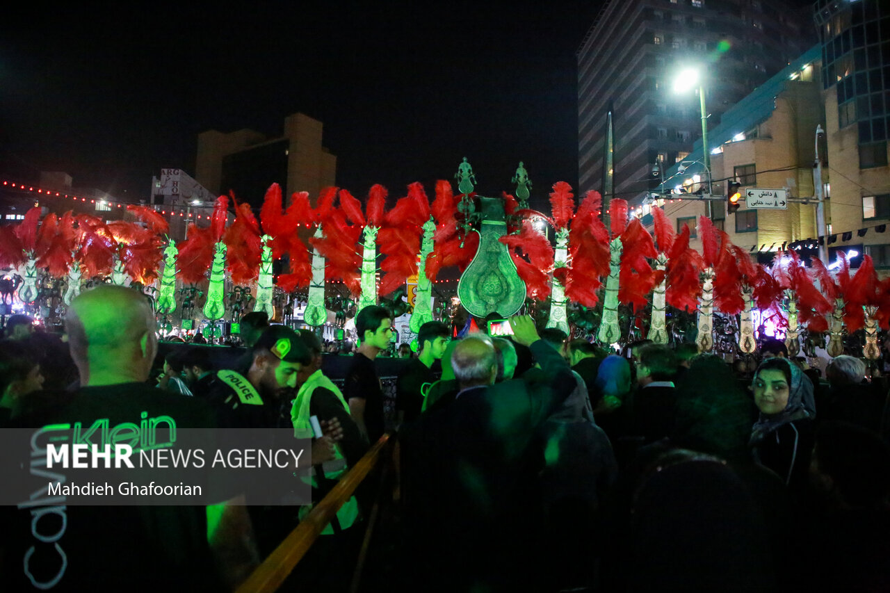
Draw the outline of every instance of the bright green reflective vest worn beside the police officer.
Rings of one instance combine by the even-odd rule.
[[[312,424],[309,422],[309,417],[311,416],[309,410],[310,403],[312,402],[312,392],[315,391],[316,387],[323,387],[335,394],[337,399],[343,404],[344,413],[347,415],[349,414],[349,406],[346,405],[346,400],[344,400],[340,389],[337,388],[329,378],[325,377],[320,369],[316,370],[306,379],[306,382],[300,386],[299,391],[296,393],[294,405],[290,409],[290,420],[294,425],[294,436],[298,439],[311,439],[315,436],[312,433]],[[346,467],[346,459],[344,459],[339,446],[335,447],[334,455],[335,459],[326,461],[321,467],[328,480],[336,481],[346,473],[349,467]],[[312,487],[317,488],[318,481],[315,479],[314,472],[315,468],[313,467],[310,479],[312,481]],[[312,510],[312,505],[300,508],[299,517],[301,521],[303,520],[303,516],[309,514],[310,510]],[[359,502],[355,500],[354,496],[350,500],[344,502],[343,506],[337,510],[336,517],[340,523],[341,529],[348,529],[355,523],[356,519],[359,517]],[[325,525],[324,530],[321,532],[322,535],[331,535],[333,533],[334,528],[331,524]]]

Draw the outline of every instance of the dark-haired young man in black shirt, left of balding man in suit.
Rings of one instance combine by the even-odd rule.
[[[396,383],[395,407],[399,410],[400,425],[420,416],[425,390],[438,378],[433,370],[433,362],[441,361],[449,339],[448,326],[441,321],[427,321],[420,326],[417,333],[420,353],[417,359],[412,359],[405,365]]]

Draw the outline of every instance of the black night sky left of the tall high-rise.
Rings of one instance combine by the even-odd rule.
[[[199,132],[277,136],[303,111],[356,195],[432,194],[464,156],[489,195],[520,160],[538,199],[577,186],[575,52],[601,2],[287,4],[17,4],[0,25],[0,174],[146,199],[162,167],[194,175]]]

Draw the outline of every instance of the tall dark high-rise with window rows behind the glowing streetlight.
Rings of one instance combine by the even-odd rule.
[[[636,200],[655,187],[655,161],[667,169],[701,136],[697,91],[675,93],[676,75],[700,68],[708,127],[716,126],[725,110],[813,45],[811,9],[789,4],[606,0],[578,49],[579,190]]]

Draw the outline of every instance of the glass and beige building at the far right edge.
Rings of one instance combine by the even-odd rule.
[[[819,0],[834,247],[890,269],[890,4]],[[837,175],[839,174],[839,175]]]

